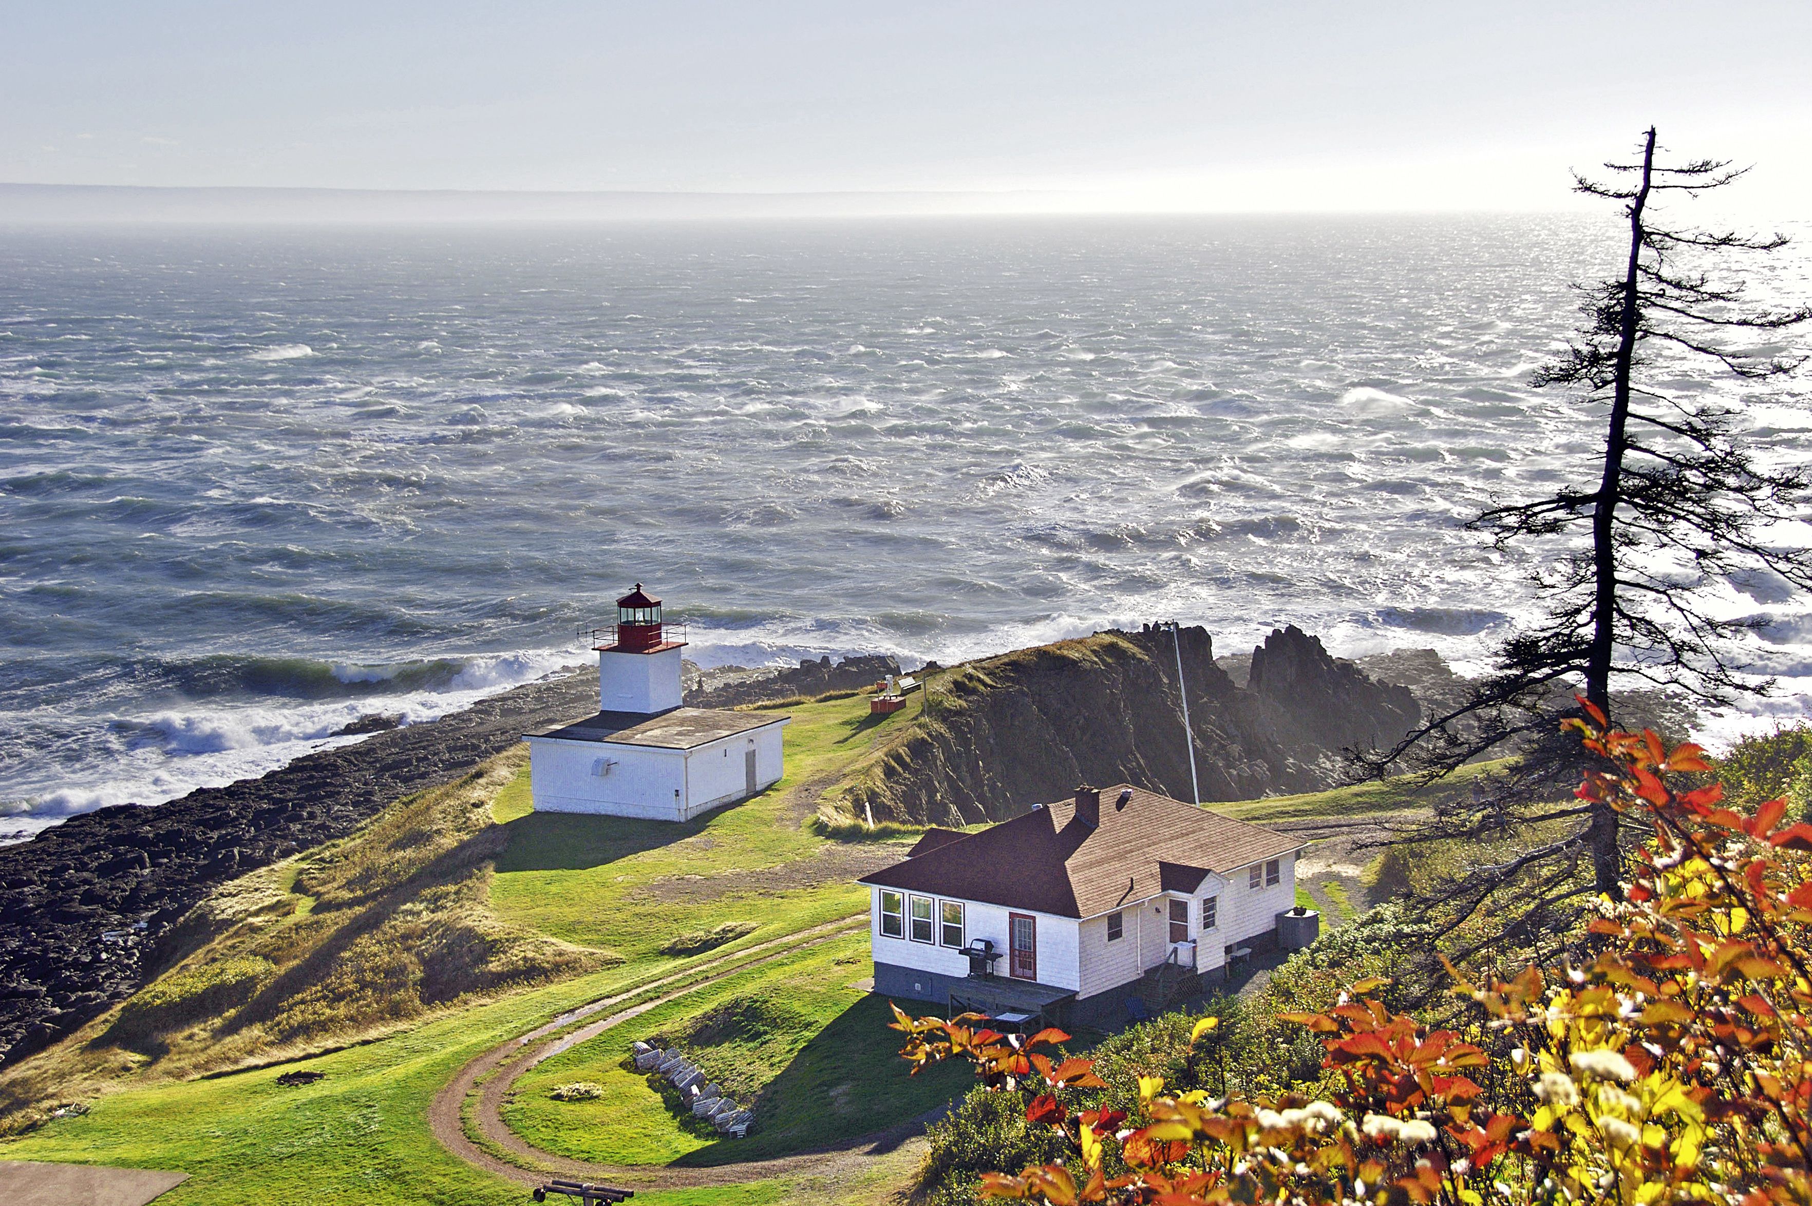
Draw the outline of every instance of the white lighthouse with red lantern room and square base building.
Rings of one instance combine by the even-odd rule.
[[[779,782],[790,717],[687,708],[685,645],[640,581],[616,601],[616,623],[593,630],[598,715],[525,733],[535,811],[690,820]]]

